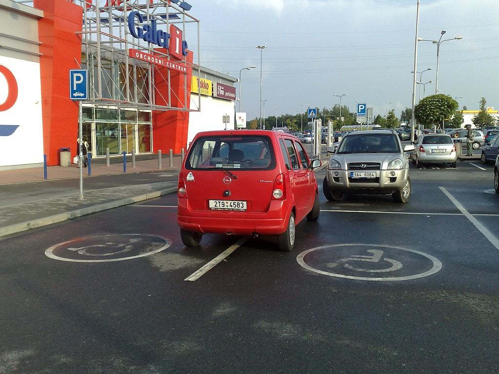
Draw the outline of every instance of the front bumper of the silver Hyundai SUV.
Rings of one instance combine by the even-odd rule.
[[[348,178],[350,172],[350,170],[328,170],[327,184],[329,188],[352,193],[390,193],[405,187],[409,176],[408,169],[380,170],[378,171],[380,177],[374,182],[371,180],[352,180]],[[335,175],[336,173],[337,175]],[[391,173],[394,173],[394,176],[391,176]]]

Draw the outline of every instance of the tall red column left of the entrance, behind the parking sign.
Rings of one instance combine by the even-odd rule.
[[[83,8],[67,0],[34,0],[43,10],[38,20],[40,45],[43,152],[49,166],[59,164],[59,148],[76,155],[78,103],[69,99],[69,69],[81,61]],[[76,60],[76,61],[75,61]]]

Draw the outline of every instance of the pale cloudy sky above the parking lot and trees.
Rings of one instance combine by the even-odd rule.
[[[260,50],[265,115],[331,108],[334,94],[374,115],[412,105],[417,0],[189,0],[200,19],[201,64],[238,78],[242,109],[259,114]],[[192,27],[191,27],[192,28]],[[439,93],[477,109],[481,97],[499,110],[499,1],[420,0],[419,37],[441,43]],[[187,35],[196,50],[196,35]],[[418,43],[426,95],[435,93],[437,46]],[[419,74],[418,74],[419,80]],[[239,84],[237,96],[240,97]],[[462,97],[462,98],[461,98]],[[419,85],[416,91],[419,98]],[[301,108],[300,108],[301,106]],[[238,104],[239,110],[239,104]]]

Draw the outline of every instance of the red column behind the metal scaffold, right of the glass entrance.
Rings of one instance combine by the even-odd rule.
[[[193,52],[188,51],[186,61],[192,64]],[[157,105],[167,105],[168,100],[168,69],[159,67],[155,69],[154,81],[156,84],[155,100]],[[191,80],[192,68],[187,69],[187,87],[185,86],[185,73],[176,70],[170,70],[171,81],[171,106],[184,107],[184,93],[187,90],[187,108],[191,104]],[[161,94],[161,95],[160,95]],[[154,152],[161,150],[163,154],[169,152],[179,154],[181,149],[187,148],[187,130],[189,127],[189,112],[170,110],[153,111],[153,144]]]

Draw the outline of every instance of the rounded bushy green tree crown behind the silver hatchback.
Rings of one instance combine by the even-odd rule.
[[[425,127],[441,128],[442,121],[450,119],[458,107],[458,102],[449,95],[430,95],[416,105],[414,117]]]

